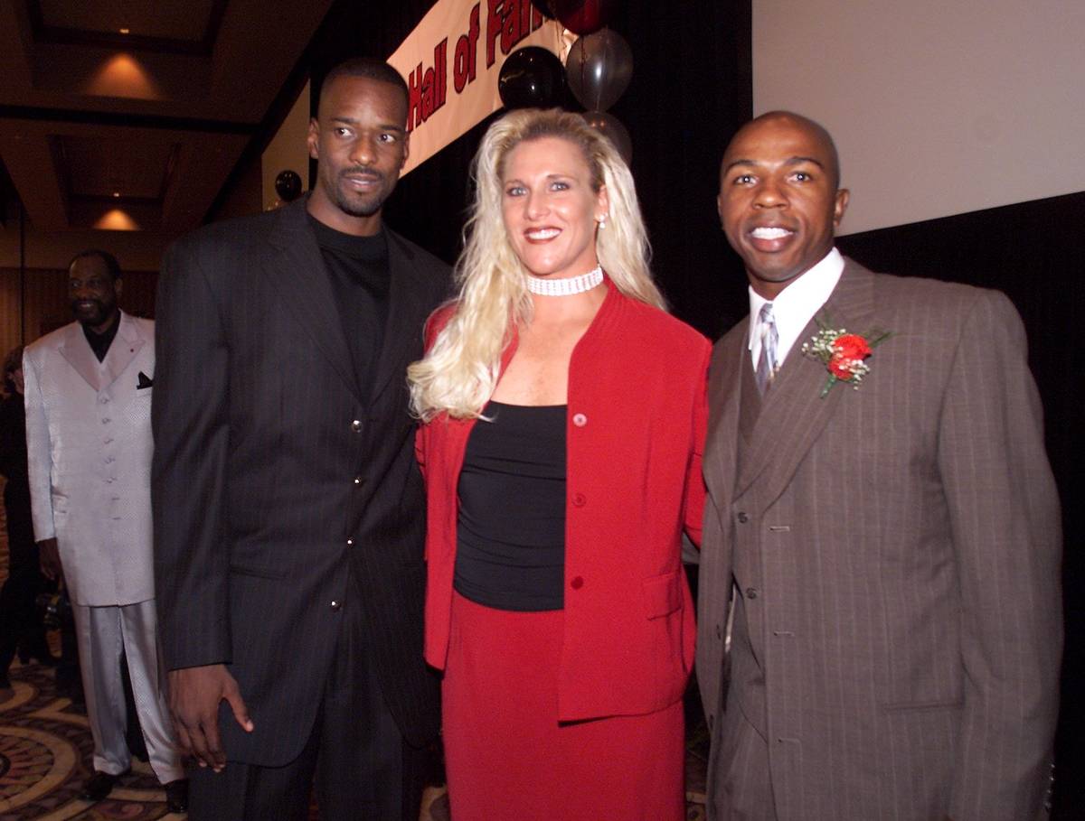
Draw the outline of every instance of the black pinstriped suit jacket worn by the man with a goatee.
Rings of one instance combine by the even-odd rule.
[[[241,731],[224,705],[231,760],[277,766],[301,752],[339,625],[359,614],[404,734],[422,744],[437,730],[437,683],[422,662],[425,516],[406,368],[422,355],[448,268],[387,234],[387,327],[367,386],[305,200],[202,229],[163,263],[158,621],[168,668],[225,662],[238,679],[256,730]]]

